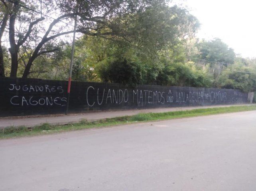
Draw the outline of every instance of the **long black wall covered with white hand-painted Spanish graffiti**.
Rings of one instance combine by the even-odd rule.
[[[0,78],[0,116],[65,113],[67,81]],[[71,83],[69,111],[244,104],[248,93],[232,89]]]

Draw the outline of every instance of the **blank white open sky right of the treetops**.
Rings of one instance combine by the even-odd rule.
[[[220,38],[242,57],[256,58],[256,1],[175,0],[199,19],[197,37]]]

